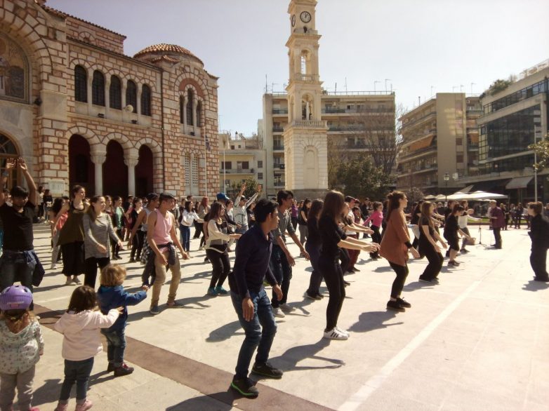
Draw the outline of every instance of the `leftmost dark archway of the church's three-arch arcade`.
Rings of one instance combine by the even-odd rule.
[[[95,166],[90,159],[90,144],[78,134],[69,140],[69,184],[81,185],[86,194],[91,196],[95,191]]]

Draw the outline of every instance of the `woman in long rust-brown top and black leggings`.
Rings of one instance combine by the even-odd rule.
[[[406,311],[406,308],[410,308],[411,304],[400,297],[404,288],[404,281],[406,281],[409,273],[406,260],[408,260],[409,252],[414,258],[418,258],[419,253],[410,243],[406,217],[404,217],[404,209],[408,205],[408,198],[402,191],[392,191],[387,199],[387,227],[383,231],[379,254],[388,260],[391,268],[397,274],[395,281],[392,282],[387,309]]]

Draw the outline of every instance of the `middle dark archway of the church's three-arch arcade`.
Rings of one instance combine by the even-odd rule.
[[[124,163],[124,149],[115,140],[107,144],[107,160],[103,163],[103,194],[128,196],[128,166]]]

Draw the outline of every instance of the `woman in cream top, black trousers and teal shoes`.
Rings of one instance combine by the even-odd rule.
[[[206,241],[206,256],[213,267],[208,295],[215,297],[227,294],[223,283],[231,271],[228,243],[231,238],[240,238],[241,234],[228,234],[227,222],[223,221],[225,206],[222,203],[213,203],[209,212],[208,240]]]

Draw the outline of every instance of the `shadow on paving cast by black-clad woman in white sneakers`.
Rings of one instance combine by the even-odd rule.
[[[321,330],[319,330],[320,334]],[[303,371],[303,370],[320,370],[324,368],[340,368],[345,365],[345,362],[338,360],[336,358],[327,358],[318,356],[317,353],[322,351],[326,346],[330,345],[331,340],[322,338],[319,342],[315,344],[305,344],[299,346],[293,346],[290,349],[287,349],[282,353],[282,355],[269,358],[269,362],[274,365],[274,367],[280,368],[283,371]],[[299,366],[299,361],[303,361],[306,358],[313,360],[325,361],[326,363],[331,363],[333,365],[302,365]],[[258,377],[254,375],[254,377]]]

